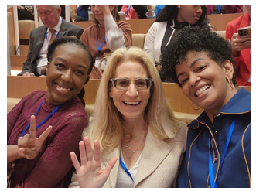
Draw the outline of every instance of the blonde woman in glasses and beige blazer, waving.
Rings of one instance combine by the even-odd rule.
[[[142,49],[112,53],[83,137],[81,164],[70,153],[76,169],[70,187],[175,186],[186,124],[174,117],[159,72]]]

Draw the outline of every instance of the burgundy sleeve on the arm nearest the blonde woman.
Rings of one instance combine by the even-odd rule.
[[[70,152],[79,155],[78,143],[88,121],[81,113],[70,116],[67,120],[63,118],[61,127],[53,127],[54,134],[49,135],[46,151],[28,178],[16,187],[54,187],[67,175],[73,166]]]

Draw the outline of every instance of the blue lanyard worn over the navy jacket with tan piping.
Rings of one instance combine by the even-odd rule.
[[[226,152],[227,152],[227,148],[228,148],[231,136],[232,136],[233,131],[234,131],[234,125],[236,124],[236,122],[237,122],[237,119],[234,119],[232,121],[232,124],[230,125],[230,130],[229,130],[228,135],[227,135],[227,141],[226,141],[226,145],[225,145],[225,150],[224,150],[224,153],[222,155],[221,162],[220,162],[220,170],[219,170],[219,173],[217,175],[216,182],[214,181],[214,173],[213,173],[213,165],[212,165],[213,162],[212,162],[212,158],[211,158],[211,155],[210,155],[210,135],[209,135],[209,143],[208,143],[208,147],[209,147],[209,174],[210,174],[210,186],[212,188],[217,188],[218,187],[218,184],[217,184],[218,177],[219,177],[221,169],[222,169],[224,158],[225,158],[225,155],[226,155]]]

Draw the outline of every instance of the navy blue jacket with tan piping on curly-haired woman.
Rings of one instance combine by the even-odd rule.
[[[224,153],[230,124],[237,122],[227,148],[223,166],[220,161]],[[251,93],[243,87],[214,115],[213,124],[205,111],[188,125],[186,153],[177,178],[177,187],[210,187],[209,138],[213,161],[213,174],[218,187],[251,186]]]

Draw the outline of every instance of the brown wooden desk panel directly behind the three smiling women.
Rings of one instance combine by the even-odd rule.
[[[94,104],[97,88],[101,80],[89,80],[84,85],[86,104]],[[203,110],[194,111],[191,101],[183,94],[180,87],[175,83],[163,83],[166,97],[172,110],[180,113],[200,114]],[[251,91],[251,87],[245,87]],[[22,98],[35,90],[47,90],[46,77],[7,77],[7,97]]]

